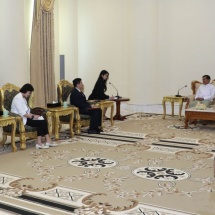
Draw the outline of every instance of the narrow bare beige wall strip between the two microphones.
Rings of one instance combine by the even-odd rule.
[[[160,103],[158,98],[158,0],[129,0],[128,68],[131,104]],[[134,3],[135,2],[135,3]],[[127,94],[123,94],[126,96]]]

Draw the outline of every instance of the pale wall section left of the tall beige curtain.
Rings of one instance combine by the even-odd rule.
[[[29,44],[32,0],[0,0],[0,86],[30,80]]]

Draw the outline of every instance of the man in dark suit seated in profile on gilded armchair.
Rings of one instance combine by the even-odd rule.
[[[90,127],[88,134],[99,134],[102,130],[99,128],[101,126],[102,111],[101,109],[94,108],[94,105],[90,105],[86,101],[86,97],[83,94],[82,90],[84,85],[80,78],[73,80],[74,89],[70,95],[71,105],[75,105],[79,108],[80,114],[90,115]]]

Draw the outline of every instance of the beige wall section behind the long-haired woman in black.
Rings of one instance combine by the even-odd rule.
[[[101,70],[128,95],[127,1],[78,1],[78,65],[90,94]],[[116,94],[112,86],[107,93]]]

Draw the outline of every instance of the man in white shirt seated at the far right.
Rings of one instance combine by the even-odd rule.
[[[215,97],[215,87],[210,84],[210,76],[202,76],[203,84],[199,87],[196,92],[195,101],[190,102],[189,107],[195,107],[198,102],[209,107],[212,104],[212,101]]]

